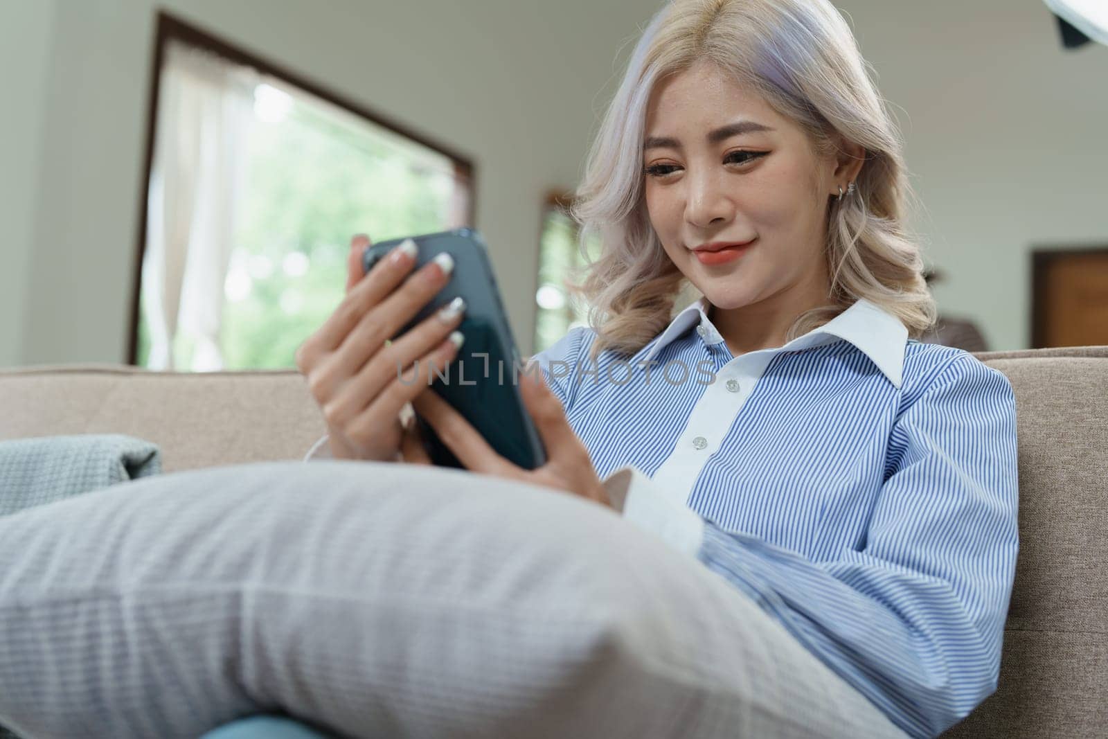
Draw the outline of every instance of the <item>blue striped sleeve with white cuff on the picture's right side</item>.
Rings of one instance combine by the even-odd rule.
[[[904,401],[885,462],[866,534],[820,562],[725,531],[634,468],[605,486],[625,517],[697,547],[901,728],[930,737],[996,689],[1018,550],[1007,378],[960,355]]]

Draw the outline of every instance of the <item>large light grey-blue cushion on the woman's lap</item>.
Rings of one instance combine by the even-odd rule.
[[[0,721],[197,737],[902,737],[695,558],[568,493],[406,464],[143,478],[0,516]]]

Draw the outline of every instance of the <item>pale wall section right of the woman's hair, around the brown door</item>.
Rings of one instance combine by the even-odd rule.
[[[901,120],[940,308],[1030,346],[1033,246],[1108,246],[1108,47],[1064,50],[1042,0],[837,4]]]

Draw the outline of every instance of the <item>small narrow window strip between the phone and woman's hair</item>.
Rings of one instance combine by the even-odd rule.
[[[572,199],[552,195],[543,211],[542,234],[538,242],[538,289],[535,291],[535,353],[546,349],[576,326],[587,324],[588,309],[570,295],[567,280],[574,279],[573,270],[587,263],[578,246],[579,232],[568,215]],[[586,245],[589,259],[596,259],[599,244],[591,239]]]

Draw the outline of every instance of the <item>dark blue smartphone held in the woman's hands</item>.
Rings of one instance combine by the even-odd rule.
[[[472,228],[411,238],[419,248],[412,271],[441,252],[453,258],[454,269],[450,281],[392,338],[462,296],[465,314],[458,330],[465,341],[447,367],[432,369],[431,390],[461,413],[501,456],[526,470],[541,466],[546,462],[546,452],[520,396],[520,353],[484,239]],[[362,274],[403,240],[396,238],[367,247]],[[463,466],[418,413],[416,420],[432,463]]]

